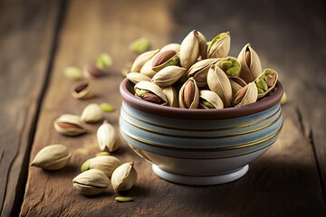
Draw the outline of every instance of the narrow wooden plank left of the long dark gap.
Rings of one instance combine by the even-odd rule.
[[[0,215],[24,197],[31,137],[60,1],[0,1]]]

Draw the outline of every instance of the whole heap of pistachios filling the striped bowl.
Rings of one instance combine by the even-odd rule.
[[[207,42],[194,30],[181,44],[141,53],[126,76],[140,99],[183,109],[241,107],[273,94],[278,73],[262,70],[249,43],[228,56],[230,42],[228,32]]]

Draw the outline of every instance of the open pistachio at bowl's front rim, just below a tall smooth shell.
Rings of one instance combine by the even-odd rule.
[[[203,109],[223,109],[223,101],[216,92],[211,90],[200,90],[199,108]]]

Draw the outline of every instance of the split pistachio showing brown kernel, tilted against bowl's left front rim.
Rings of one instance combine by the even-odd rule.
[[[155,83],[150,81],[142,80],[134,86],[136,96],[141,99],[151,101],[160,105],[167,105],[168,99],[163,93],[163,90],[158,87]],[[138,91],[142,90],[142,91]],[[154,94],[154,95],[153,95]],[[152,98],[155,100],[152,100]]]

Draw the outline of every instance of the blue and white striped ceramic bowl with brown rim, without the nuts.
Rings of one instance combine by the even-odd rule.
[[[152,163],[159,177],[177,184],[235,181],[262,156],[283,127],[278,81],[273,95],[228,109],[179,109],[134,96],[133,83],[120,83],[120,133],[131,149]]]

